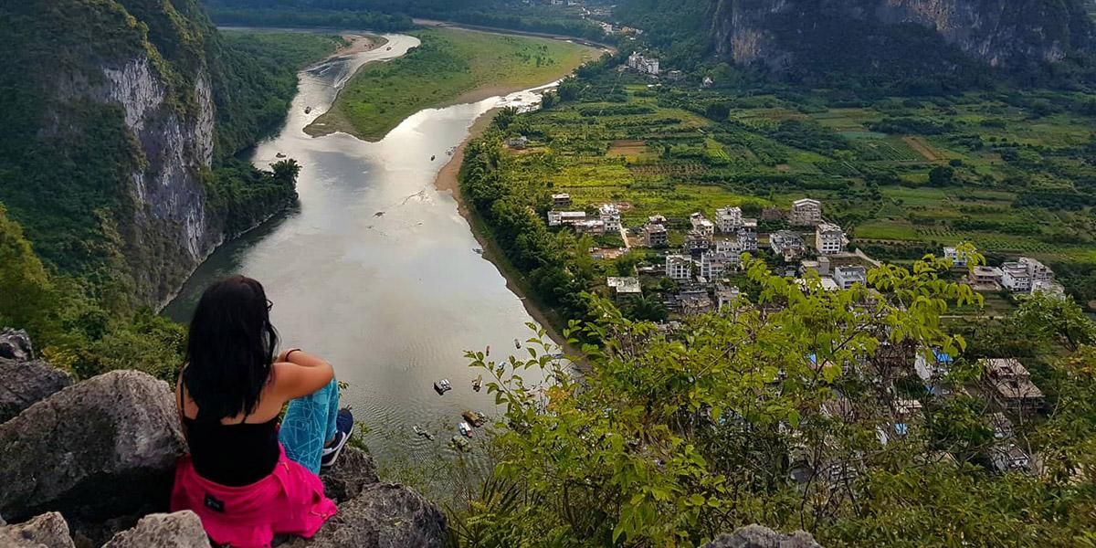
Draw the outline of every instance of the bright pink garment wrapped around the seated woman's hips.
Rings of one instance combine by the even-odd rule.
[[[270,476],[243,487],[206,480],[185,455],[171,491],[171,511],[181,510],[194,511],[214,543],[232,548],[265,548],[274,535],[311,538],[336,511],[320,478],[286,458],[284,448]]]

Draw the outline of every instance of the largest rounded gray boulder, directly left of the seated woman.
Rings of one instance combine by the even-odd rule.
[[[57,510],[84,522],[163,511],[184,452],[167,383],[100,375],[0,424],[0,514]]]

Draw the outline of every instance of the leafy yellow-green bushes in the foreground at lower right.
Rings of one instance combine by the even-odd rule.
[[[1068,334],[1077,350],[1025,361],[1051,410],[1016,420],[1037,471],[991,472],[983,356],[940,321],[979,297],[941,279],[947,266],[926,258],[872,271],[880,293],[825,292],[754,261],[753,302],[673,333],[592,298],[597,320],[570,330],[601,342],[583,347],[579,376],[550,357],[543,331],[527,361],[469,353],[506,412],[494,478],[458,514],[455,541],[699,546],[762,523],[825,546],[1092,545],[1096,329],[1058,321],[1076,307],[1046,297],[1008,320],[1050,315],[1068,333],[1034,330],[1032,344],[1061,350]],[[932,392],[911,367],[926,349],[960,356]]]

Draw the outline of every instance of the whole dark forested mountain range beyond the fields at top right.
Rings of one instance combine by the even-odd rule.
[[[695,53],[791,78],[969,81],[992,67],[1046,81],[1063,72],[1047,65],[1096,44],[1085,11],[1082,0],[630,0],[617,15],[663,48],[692,33]]]

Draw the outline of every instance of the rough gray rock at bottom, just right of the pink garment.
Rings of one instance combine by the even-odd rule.
[[[413,490],[374,483],[352,501],[311,540],[293,539],[289,548],[441,548],[445,514]]]

